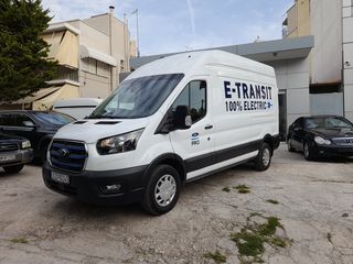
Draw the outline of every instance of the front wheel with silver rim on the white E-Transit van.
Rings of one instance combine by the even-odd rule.
[[[170,189],[167,193],[159,193],[157,189],[157,185],[162,187],[163,184],[170,184]],[[174,184],[174,187],[173,186]],[[149,182],[146,186],[143,199],[141,201],[142,208],[153,215],[160,216],[165,212],[169,212],[175,206],[181,188],[180,175],[175,168],[169,165],[159,165],[154,168],[152,174],[150,175]],[[159,194],[162,194],[159,196]],[[163,195],[172,195],[170,199],[163,200]],[[159,197],[159,198],[157,198]],[[162,205],[165,204],[165,205]]]

